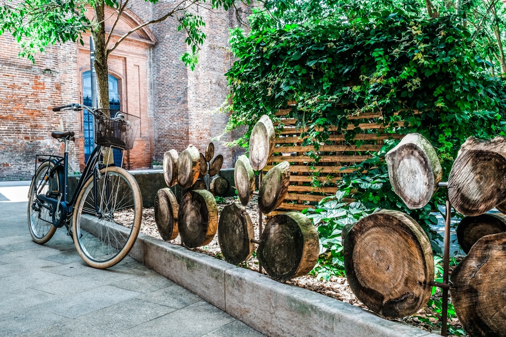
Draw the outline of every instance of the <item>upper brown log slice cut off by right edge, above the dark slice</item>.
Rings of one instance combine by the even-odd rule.
[[[483,214],[506,200],[506,138],[469,137],[448,177],[448,199],[463,215]]]

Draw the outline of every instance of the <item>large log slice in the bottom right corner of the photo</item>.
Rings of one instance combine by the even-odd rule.
[[[506,232],[486,235],[451,273],[451,300],[470,336],[506,335]]]

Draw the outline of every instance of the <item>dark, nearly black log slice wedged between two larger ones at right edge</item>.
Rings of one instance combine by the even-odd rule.
[[[469,253],[471,247],[483,236],[506,232],[506,219],[495,214],[467,216],[457,226],[457,241],[462,251]]]

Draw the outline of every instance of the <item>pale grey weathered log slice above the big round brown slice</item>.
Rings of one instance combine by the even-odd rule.
[[[436,151],[419,133],[407,134],[385,159],[394,192],[409,209],[429,203],[443,177]]]

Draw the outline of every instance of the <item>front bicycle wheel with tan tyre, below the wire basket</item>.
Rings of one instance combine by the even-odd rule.
[[[126,170],[111,166],[90,177],[77,196],[72,235],[80,257],[94,268],[108,268],[132,249],[141,228],[139,185]]]

